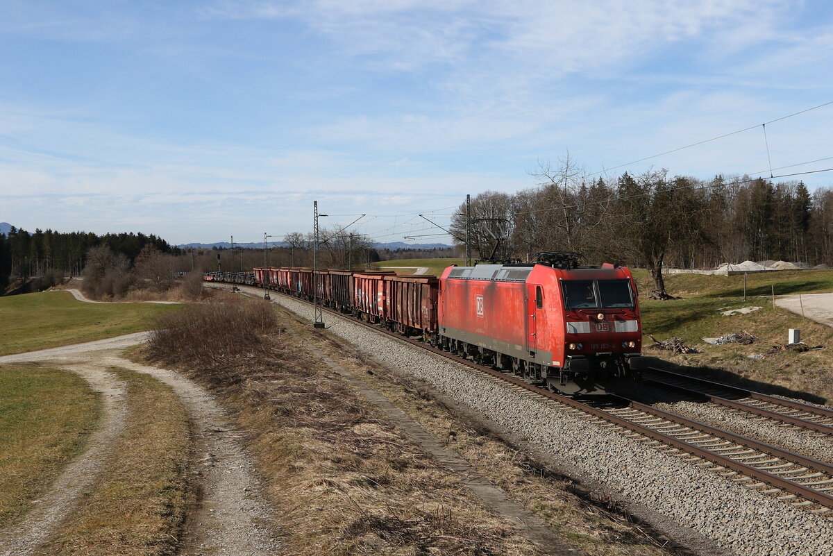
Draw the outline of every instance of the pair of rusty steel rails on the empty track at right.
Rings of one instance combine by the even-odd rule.
[[[711,380],[704,380],[688,375],[680,375],[678,373],[672,373],[667,370],[654,368],[651,368],[649,370],[651,371],[651,373],[657,373],[659,375],[669,375],[671,376],[672,380],[682,380],[694,383],[696,385],[703,385],[708,388],[728,390],[730,392],[736,393],[736,395],[741,395],[745,398],[750,398],[751,400],[759,400],[773,405],[780,405],[781,407],[786,407],[792,410],[805,411],[806,413],[816,415],[816,417],[820,419],[833,419],[833,410],[829,408],[817,407],[816,405],[802,404],[801,402],[797,402],[794,400],[783,400],[781,398],[776,398],[775,396],[761,394],[760,392],[753,392],[752,390],[745,390],[731,385],[722,385],[721,383],[712,382]],[[796,417],[795,415],[781,413],[780,411],[776,410],[767,410],[765,408],[756,405],[749,405],[738,400],[730,400],[724,396],[710,394],[701,390],[692,390],[690,388],[687,388],[686,386],[671,384],[670,382],[666,382],[665,380],[656,380],[651,377],[644,376],[642,378],[643,380],[657,385],[665,386],[666,388],[673,388],[675,390],[681,390],[686,393],[704,396],[711,402],[714,402],[719,405],[724,405],[726,407],[731,407],[732,409],[746,411],[747,413],[761,415],[770,419],[777,419],[785,423],[795,424],[796,426],[803,427],[805,429],[816,430],[825,434],[833,434],[833,424],[816,423],[815,421],[804,419],[801,417]]]

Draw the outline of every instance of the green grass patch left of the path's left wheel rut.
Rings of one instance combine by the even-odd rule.
[[[17,522],[82,451],[98,415],[97,396],[77,375],[0,366],[0,529]]]

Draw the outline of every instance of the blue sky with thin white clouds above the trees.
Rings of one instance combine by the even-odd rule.
[[[0,13],[0,221],[29,230],[262,241],[310,231],[317,200],[327,226],[366,213],[355,231],[400,241],[438,231],[416,213],[447,223],[466,193],[536,186],[566,152],[591,174],[833,101],[833,2]],[[766,131],[774,167],[833,156],[833,105]],[[769,175],[761,127],[617,171],[651,166]],[[833,186],[833,172],[803,179]]]

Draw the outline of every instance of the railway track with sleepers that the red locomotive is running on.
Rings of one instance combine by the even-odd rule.
[[[292,300],[301,300],[292,295],[287,295],[287,297]],[[681,457],[697,467],[721,474],[726,479],[745,484],[761,493],[776,496],[782,501],[804,507],[813,513],[833,515],[833,465],[827,462],[621,396],[605,396],[600,400],[576,400],[529,384],[516,375],[478,365],[471,360],[439,350],[422,340],[399,335],[335,310],[327,308],[323,310],[332,315],[348,318],[352,322],[365,325],[409,345],[441,355],[459,365],[466,365],[482,374],[489,375],[494,380],[509,383],[516,390],[525,390],[531,395],[551,400],[577,415],[583,414],[590,422],[607,429],[627,431],[625,434],[632,439],[641,439],[646,444]],[[790,401],[780,398],[776,400]],[[768,400],[760,401],[771,403]],[[803,404],[798,405],[803,406]],[[815,406],[808,407],[815,408]]]

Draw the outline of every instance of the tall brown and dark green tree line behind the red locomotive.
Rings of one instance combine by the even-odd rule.
[[[833,189],[812,194],[802,181],[668,171],[587,180],[566,157],[541,166],[535,188],[485,191],[452,219],[458,245],[476,256],[529,261],[538,251],[576,251],[586,264],[643,266],[666,297],[662,268],[715,268],[741,261],[833,266]],[[502,241],[497,241],[498,239]]]

